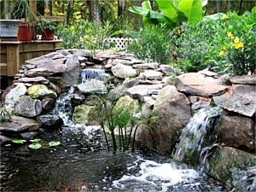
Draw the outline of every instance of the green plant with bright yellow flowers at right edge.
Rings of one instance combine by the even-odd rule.
[[[225,73],[255,73],[255,12],[254,8],[252,13],[241,16],[228,13],[222,22],[226,33],[218,53],[218,63],[223,65]]]

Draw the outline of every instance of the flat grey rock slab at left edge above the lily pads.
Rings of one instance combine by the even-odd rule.
[[[19,116],[13,116],[9,122],[3,122],[0,125],[0,131],[35,131],[41,126],[34,119],[28,119]]]

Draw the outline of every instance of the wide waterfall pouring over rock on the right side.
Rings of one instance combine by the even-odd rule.
[[[173,160],[194,163],[201,157],[207,142],[214,142],[214,131],[218,127],[218,119],[222,114],[222,108],[201,108],[189,124],[183,129],[177,143]]]

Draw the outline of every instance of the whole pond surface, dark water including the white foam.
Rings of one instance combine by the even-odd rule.
[[[200,167],[141,151],[108,152],[95,130],[44,131],[38,149],[3,146],[1,191],[225,191]],[[61,145],[49,147],[51,141]]]

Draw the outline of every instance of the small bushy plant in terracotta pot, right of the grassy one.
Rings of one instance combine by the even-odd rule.
[[[55,26],[57,26],[55,20],[47,20],[45,18],[42,18],[38,21],[38,26],[42,34],[42,40],[54,40]]]

